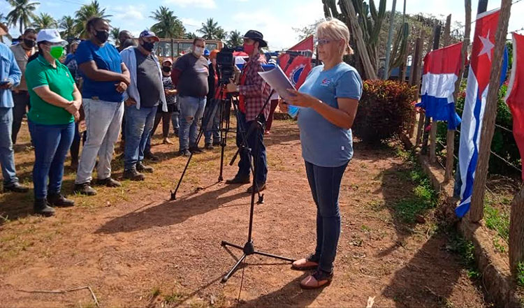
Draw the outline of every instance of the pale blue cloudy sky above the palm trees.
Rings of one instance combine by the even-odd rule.
[[[49,13],[56,19],[64,15],[73,15],[82,3],[90,0],[40,0],[37,13]],[[159,6],[167,6],[175,11],[188,31],[194,32],[208,17],[213,17],[219,25],[231,31],[245,33],[249,29],[258,29],[268,41],[272,50],[280,50],[294,45],[297,34],[293,27],[300,28],[312,24],[323,17],[321,0],[99,0],[106,12],[113,15],[110,20],[113,27],[128,29],[133,34],[151,27],[154,21],[151,12]],[[473,12],[476,13],[476,0]],[[393,0],[388,0],[391,10]],[[402,10],[403,1],[397,1],[397,11]],[[490,0],[488,10],[500,6],[500,0]],[[0,1],[0,12],[7,14],[10,6]],[[407,0],[407,13],[432,13],[434,15],[453,14],[453,21],[464,21],[462,0]],[[475,14],[474,14],[475,15]],[[509,30],[521,29],[524,21],[524,1],[516,3],[511,9]],[[12,34],[17,34],[13,29]]]

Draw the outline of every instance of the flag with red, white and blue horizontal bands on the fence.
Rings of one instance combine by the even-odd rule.
[[[437,121],[447,121],[449,129],[456,129],[460,117],[455,112],[455,82],[460,73],[460,52],[463,43],[433,50],[424,58],[421,103],[425,115]]]

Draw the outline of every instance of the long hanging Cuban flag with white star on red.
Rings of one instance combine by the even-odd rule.
[[[504,52],[503,59],[493,59],[499,13],[499,9],[491,10],[477,15],[476,19],[470,71],[467,78],[466,101],[460,127],[458,163],[462,184],[460,187],[460,204],[455,209],[458,217],[464,217],[470,210],[476,161],[479,159],[482,120],[493,61],[504,61],[501,84],[506,76],[507,50]]]

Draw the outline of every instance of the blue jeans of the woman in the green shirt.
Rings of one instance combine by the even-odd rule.
[[[34,145],[34,198],[42,200],[49,193],[60,193],[64,176],[64,161],[73,137],[75,122],[62,125],[42,125],[29,121]],[[49,187],[48,187],[49,180]]]

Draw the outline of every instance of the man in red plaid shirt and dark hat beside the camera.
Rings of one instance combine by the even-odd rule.
[[[249,126],[254,124],[259,112],[263,111],[265,119],[268,119],[270,104],[264,103],[270,94],[270,86],[266,84],[259,72],[263,71],[262,65],[265,64],[265,57],[261,54],[261,48],[268,46],[264,41],[263,35],[259,31],[249,30],[244,36],[244,52],[249,54],[249,61],[245,64],[242,75],[240,75],[240,85],[231,82],[227,86],[228,92],[239,92],[239,114],[237,124],[237,146],[242,145],[242,133],[248,131]],[[262,110],[263,108],[263,110]],[[256,189],[263,191],[265,189],[265,180],[268,175],[268,160],[265,155],[265,146],[263,143],[264,131],[254,130],[247,136],[247,144],[254,151],[259,149],[257,157],[257,172],[254,178]],[[250,153],[248,149],[240,150],[240,161],[238,162],[238,173],[233,179],[226,181],[226,184],[248,184],[249,173],[251,172],[251,156],[256,153]],[[251,193],[251,187],[247,190]]]

